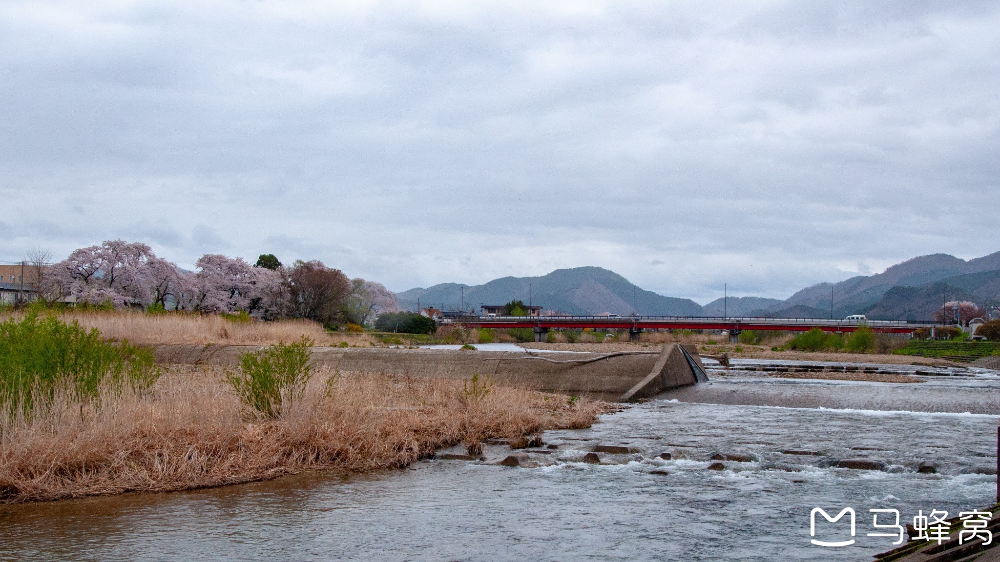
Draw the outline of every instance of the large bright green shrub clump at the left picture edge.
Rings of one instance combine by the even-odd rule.
[[[0,323],[0,402],[12,407],[27,410],[59,388],[92,400],[102,390],[119,392],[125,385],[148,388],[159,376],[149,350],[109,342],[75,320],[67,324],[29,311]]]

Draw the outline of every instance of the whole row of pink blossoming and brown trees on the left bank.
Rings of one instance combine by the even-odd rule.
[[[283,265],[262,254],[242,258],[205,254],[187,271],[140,242],[108,240],[74,250],[39,280],[50,302],[142,307],[201,313],[258,313],[266,320],[307,318],[326,326],[363,324],[373,313],[397,312],[396,295],[381,283],[350,279],[318,260]]]

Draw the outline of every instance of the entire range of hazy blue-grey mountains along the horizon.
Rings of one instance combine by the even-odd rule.
[[[530,286],[530,297],[529,297]],[[632,314],[633,285],[600,267],[557,269],[540,277],[504,277],[483,285],[442,283],[397,295],[404,309],[434,306],[471,310],[480,304],[522,300],[568,314]],[[464,291],[464,297],[463,297]],[[929,320],[946,300],[1000,304],[1000,252],[972,260],[948,254],[916,257],[876,275],[818,283],[786,300],[763,297],[716,299],[704,307],[690,299],[635,288],[635,310],[649,316],[767,316],[833,318],[865,314],[873,320]]]

